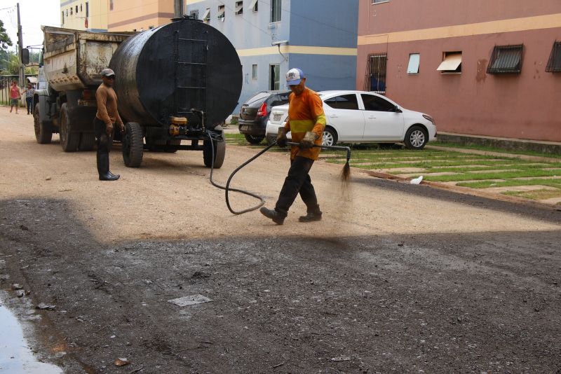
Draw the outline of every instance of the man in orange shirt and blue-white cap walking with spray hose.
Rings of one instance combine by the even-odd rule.
[[[259,212],[278,225],[282,225],[288,215],[288,209],[298,194],[306,204],[305,216],[300,222],[320,221],[322,212],[316,198],[316,191],[310,179],[310,169],[318,159],[325,128],[323,102],[319,95],[306,87],[306,76],[301,69],[290,69],[286,74],[286,84],[292,90],[288,97],[288,121],[280,127],[276,138],[278,146],[285,146],[287,132],[292,133],[292,141],[299,143],[290,149],[290,169],[275,209],[262,207]],[[313,148],[312,148],[313,147]]]

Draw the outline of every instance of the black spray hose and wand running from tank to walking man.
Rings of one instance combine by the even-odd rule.
[[[238,215],[238,214],[244,214],[244,213],[252,212],[254,210],[259,209],[263,205],[265,205],[265,200],[261,196],[257,195],[256,193],[251,193],[249,191],[240,190],[238,188],[230,188],[230,183],[231,183],[231,180],[234,178],[234,175],[236,175],[237,172],[239,172],[241,169],[243,169],[243,167],[248,165],[250,162],[252,162],[256,158],[258,158],[260,155],[262,155],[266,151],[269,151],[269,149],[273,148],[273,146],[276,146],[276,141],[273,144],[271,144],[269,146],[266,146],[262,151],[260,151],[256,155],[254,155],[249,160],[243,162],[242,165],[236,167],[234,172],[232,172],[230,174],[230,176],[228,178],[228,181],[226,182],[226,186],[220,186],[219,184],[215,183],[215,181],[212,180],[212,173],[214,172],[214,169],[215,169],[215,145],[214,145],[214,141],[212,141],[212,140],[219,140],[218,138],[222,138],[222,136],[217,136],[215,134],[212,134],[211,132],[208,132],[208,136],[211,139],[210,146],[212,148],[212,162],[211,162],[211,165],[210,165],[210,184],[212,184],[212,186],[215,186],[215,187],[220,188],[221,190],[225,191],[226,205],[228,207],[228,210],[232,214]],[[225,141],[225,139],[222,139],[222,141]],[[299,146],[299,143],[287,142],[286,144],[288,146]],[[346,151],[346,162],[345,162],[345,165],[343,167],[342,179],[344,179],[344,180],[349,179],[349,175],[350,175],[349,174],[350,173],[349,160],[351,160],[351,148],[349,148],[347,146],[323,146],[323,145],[318,146],[316,144],[314,144],[313,146],[317,147],[317,148],[323,148],[323,149],[335,149],[335,150]],[[236,210],[232,209],[232,207],[230,205],[230,198],[229,198],[230,191],[231,192],[237,192],[237,193],[243,193],[244,195],[252,196],[253,198],[256,198],[257,200],[259,200],[259,204],[255,205],[255,207],[250,207],[248,209],[243,209],[243,210],[236,211]]]

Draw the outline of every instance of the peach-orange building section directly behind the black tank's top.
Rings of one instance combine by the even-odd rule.
[[[107,0],[110,32],[153,29],[171,22],[174,0]]]

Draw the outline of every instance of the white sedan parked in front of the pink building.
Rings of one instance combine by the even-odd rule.
[[[327,125],[323,145],[336,143],[397,143],[422,149],[436,138],[433,118],[410,111],[387,97],[365,91],[320,91]],[[269,144],[288,119],[288,104],[274,106],[266,127]],[[290,137],[290,133],[289,133]]]

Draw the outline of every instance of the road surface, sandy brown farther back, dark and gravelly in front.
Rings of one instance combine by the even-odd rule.
[[[66,373],[561,370],[555,209],[357,171],[342,185],[340,166],[316,162],[323,221],[299,223],[298,200],[276,226],[231,214],[201,152],[129,169],[116,144],[121,179],[102,182],[95,152],[36,144],[32,116],[1,108],[0,134],[4,303]],[[255,153],[229,146],[215,181]],[[287,169],[288,154],[266,153],[232,186],[273,207]],[[194,295],[211,301],[168,301]]]

